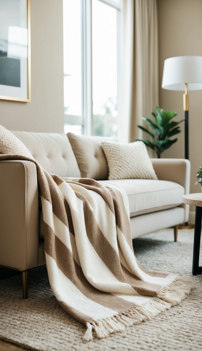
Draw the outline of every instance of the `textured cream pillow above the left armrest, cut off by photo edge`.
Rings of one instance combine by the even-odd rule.
[[[26,146],[13,133],[0,125],[0,153],[9,155],[21,155],[33,158]]]

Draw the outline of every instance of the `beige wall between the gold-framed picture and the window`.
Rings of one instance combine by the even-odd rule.
[[[0,100],[0,124],[63,131],[62,0],[31,0],[31,102]]]

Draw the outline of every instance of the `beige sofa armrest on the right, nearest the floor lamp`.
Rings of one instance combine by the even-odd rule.
[[[158,179],[174,181],[184,187],[184,193],[189,194],[190,189],[190,161],[177,158],[151,159]],[[189,206],[182,204],[185,209],[184,221],[189,219]]]

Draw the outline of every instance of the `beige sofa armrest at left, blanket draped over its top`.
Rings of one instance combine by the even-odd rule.
[[[0,265],[26,270],[38,265],[38,184],[31,161],[0,161]]]

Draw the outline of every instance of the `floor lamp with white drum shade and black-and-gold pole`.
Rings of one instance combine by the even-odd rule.
[[[184,148],[185,158],[189,159],[189,95],[190,90],[202,90],[202,57],[177,56],[164,61],[162,88],[167,90],[184,91]],[[193,226],[180,226],[190,228]]]

